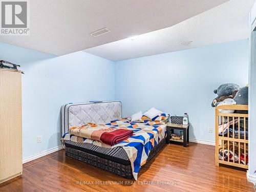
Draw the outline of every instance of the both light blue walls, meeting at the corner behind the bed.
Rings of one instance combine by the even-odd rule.
[[[89,100],[121,100],[123,116],[152,106],[187,112],[190,138],[214,141],[208,133],[213,90],[225,82],[248,83],[248,51],[248,40],[241,40],[114,63],[84,52],[56,57],[0,43],[0,58],[25,71],[23,158],[60,145],[62,104]]]

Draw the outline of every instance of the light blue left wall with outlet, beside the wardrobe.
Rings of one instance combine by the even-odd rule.
[[[60,57],[0,43],[0,58],[25,71],[23,158],[60,145],[60,107],[69,102],[113,100],[114,62],[76,52]],[[42,142],[37,143],[37,136]]]

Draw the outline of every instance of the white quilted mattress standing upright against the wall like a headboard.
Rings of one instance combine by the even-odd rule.
[[[120,101],[65,104],[61,106],[61,134],[67,133],[71,126],[81,126],[89,122],[104,124],[121,117]]]

